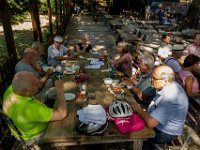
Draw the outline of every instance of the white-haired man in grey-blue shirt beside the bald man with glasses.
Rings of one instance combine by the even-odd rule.
[[[155,89],[151,87],[150,81],[154,63],[154,57],[149,53],[144,53],[139,57],[139,69],[142,72],[139,80],[132,76],[130,79],[124,78],[122,81],[129,86],[132,85],[132,92],[144,108],[148,107],[156,93]]]

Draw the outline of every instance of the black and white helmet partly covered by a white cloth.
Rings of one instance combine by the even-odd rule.
[[[76,126],[75,126],[75,131],[81,134],[86,134],[86,135],[97,135],[97,134],[102,134],[103,132],[106,131],[108,127],[108,122],[106,121],[105,124],[96,124],[96,123],[82,123],[81,121],[78,121]]]

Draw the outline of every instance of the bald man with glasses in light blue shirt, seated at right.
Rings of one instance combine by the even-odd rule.
[[[188,98],[174,79],[175,74],[169,66],[158,66],[151,76],[151,85],[157,90],[156,96],[147,111],[137,103],[131,104],[146,126],[153,128],[156,133],[155,138],[144,142],[143,150],[153,150],[155,144],[170,143],[182,134],[188,112]]]

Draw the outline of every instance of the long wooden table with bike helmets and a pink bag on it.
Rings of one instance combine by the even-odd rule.
[[[83,62],[86,63],[87,61],[84,60]],[[103,66],[102,69],[105,69],[105,66]],[[77,100],[74,100],[66,102],[68,117],[64,120],[51,122],[49,124],[44,136],[45,143],[48,143],[52,147],[66,147],[85,144],[133,142],[133,149],[140,150],[144,140],[155,136],[152,129],[145,127],[142,131],[130,134],[120,134],[114,123],[109,123],[107,130],[102,135],[87,136],[78,134],[74,131],[75,124],[78,121],[76,115],[78,109],[82,108],[87,103],[94,102],[106,107],[115,100],[115,97],[108,92],[108,87],[103,83],[103,78],[108,76],[107,72],[101,72],[96,69],[85,69],[85,71],[88,73],[90,78],[87,83],[87,91],[88,93],[91,91],[95,92],[95,100],[86,102],[77,102]],[[64,77],[66,82],[71,80],[71,78],[73,78],[73,75],[66,75]],[[93,79],[91,80],[91,78]],[[127,89],[124,89],[124,91],[126,101],[135,101],[132,94]]]

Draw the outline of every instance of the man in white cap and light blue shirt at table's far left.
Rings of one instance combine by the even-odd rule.
[[[54,44],[48,48],[48,65],[57,66],[61,64],[61,61],[68,60],[67,48],[62,44],[63,38],[59,35],[54,37]]]

